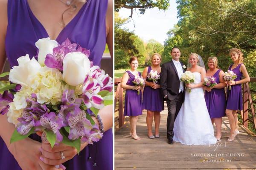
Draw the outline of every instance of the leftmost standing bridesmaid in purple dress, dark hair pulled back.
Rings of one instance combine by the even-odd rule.
[[[138,115],[142,115],[142,95],[141,86],[135,86],[132,82],[135,76],[141,76],[140,72],[137,71],[138,58],[130,58],[131,70],[128,70],[122,76],[121,86],[126,89],[125,92],[125,110],[124,115],[129,116],[131,125],[130,136],[135,140],[140,140],[140,136],[136,133],[136,124],[138,121]],[[138,91],[140,94],[138,95]]]

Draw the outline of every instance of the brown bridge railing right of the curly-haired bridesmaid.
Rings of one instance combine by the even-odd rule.
[[[250,83],[255,83],[256,78],[250,78]],[[255,90],[250,90],[249,84],[243,84],[243,110],[241,112],[242,124],[244,127],[248,128],[248,122],[250,121],[253,124],[254,130],[256,130],[256,115],[255,108],[253,104],[256,104],[256,101],[253,101],[252,94],[256,94]],[[249,111],[252,114],[252,118],[249,118]]]

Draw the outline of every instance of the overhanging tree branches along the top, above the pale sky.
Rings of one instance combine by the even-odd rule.
[[[131,9],[131,18],[133,9],[139,9],[140,14],[144,14],[146,9],[154,7],[165,11],[169,7],[169,0],[115,0],[115,11],[119,12],[120,8]]]

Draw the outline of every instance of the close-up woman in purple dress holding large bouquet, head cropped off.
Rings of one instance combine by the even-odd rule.
[[[35,42],[46,37],[58,43],[68,38],[90,49],[89,59],[99,66],[106,43],[112,55],[112,7],[111,0],[1,0],[0,69],[6,57],[12,67],[20,56],[35,56]],[[0,115],[0,170],[64,169],[56,168],[57,164],[64,164],[68,170],[112,170],[112,106],[101,109],[99,115],[104,136],[93,145],[81,144],[79,156],[64,144],[49,149],[36,134],[9,144],[15,127],[6,115]]]

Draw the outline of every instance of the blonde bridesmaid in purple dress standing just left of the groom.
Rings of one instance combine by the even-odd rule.
[[[143,78],[145,81],[145,88],[143,92],[143,103],[142,109],[147,110],[146,122],[148,126],[148,138],[159,138],[159,125],[160,125],[160,112],[164,109],[163,97],[160,92],[160,80],[157,83],[148,80],[147,75],[151,70],[157,71],[158,74],[161,72],[161,55],[154,53],[151,58],[151,66],[148,66],[143,71]],[[155,136],[152,133],[153,117],[155,123]]]

